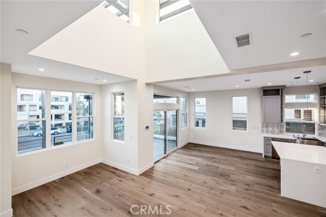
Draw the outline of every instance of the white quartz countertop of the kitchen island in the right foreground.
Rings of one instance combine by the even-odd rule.
[[[326,148],[323,146],[303,145],[271,141],[282,159],[299,160],[326,165]]]

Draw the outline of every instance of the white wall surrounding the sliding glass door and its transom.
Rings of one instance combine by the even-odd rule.
[[[165,87],[161,87],[161,86],[157,86],[157,85],[154,85],[154,93],[179,97],[178,104],[156,102],[156,103],[154,103],[153,109],[154,109],[154,111],[179,110],[179,112],[178,112],[178,145],[179,145],[179,147],[184,146],[189,141],[189,93],[171,89],[171,88],[165,88]],[[187,127],[184,129],[181,129],[181,116],[180,116],[180,110],[181,110],[180,98],[181,97],[187,98],[187,100],[188,100],[188,120],[187,120]]]

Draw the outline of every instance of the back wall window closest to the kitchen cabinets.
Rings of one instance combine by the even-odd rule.
[[[232,128],[247,130],[247,96],[232,97]]]

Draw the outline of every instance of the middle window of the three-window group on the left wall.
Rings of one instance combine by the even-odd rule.
[[[72,112],[65,110],[65,105],[71,104],[72,92],[51,91],[51,146],[72,143],[71,127],[68,128],[72,126]]]

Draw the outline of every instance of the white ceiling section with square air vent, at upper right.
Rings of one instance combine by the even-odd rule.
[[[326,57],[326,1],[190,2],[230,70]],[[238,48],[248,33],[251,45]]]

